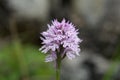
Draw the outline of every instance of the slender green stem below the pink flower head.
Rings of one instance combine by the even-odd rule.
[[[56,80],[60,80],[60,69],[61,69],[61,57],[57,55],[56,60]]]

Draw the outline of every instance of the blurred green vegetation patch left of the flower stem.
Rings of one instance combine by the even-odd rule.
[[[18,41],[0,50],[0,80],[53,80],[54,69],[33,45]]]

